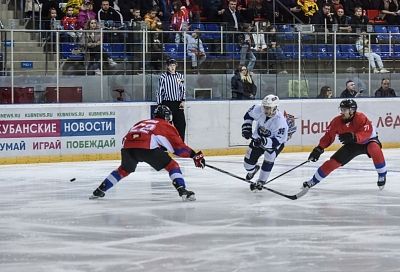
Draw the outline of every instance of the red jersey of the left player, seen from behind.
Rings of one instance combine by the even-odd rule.
[[[124,148],[155,149],[163,146],[179,157],[190,157],[194,151],[179,136],[176,128],[164,119],[149,119],[136,123],[123,140]]]

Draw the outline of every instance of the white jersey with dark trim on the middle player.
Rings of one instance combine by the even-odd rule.
[[[255,127],[253,122],[255,122]],[[261,105],[253,105],[244,116],[244,123],[253,124],[253,139],[266,138],[264,148],[278,148],[288,140],[288,125],[279,110],[273,117],[267,117]]]

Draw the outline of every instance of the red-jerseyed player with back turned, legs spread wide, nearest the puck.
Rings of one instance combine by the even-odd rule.
[[[176,128],[170,124],[171,120],[171,110],[165,105],[159,105],[154,110],[153,119],[136,123],[124,137],[121,165],[107,176],[90,198],[104,197],[107,190],[135,172],[139,162],[146,162],[157,171],[168,171],[182,200],[196,200],[194,192],[186,190],[179,164],[166,151],[179,157],[190,157],[195,166],[200,168],[205,166],[204,156],[201,151],[196,153],[182,141]]]

